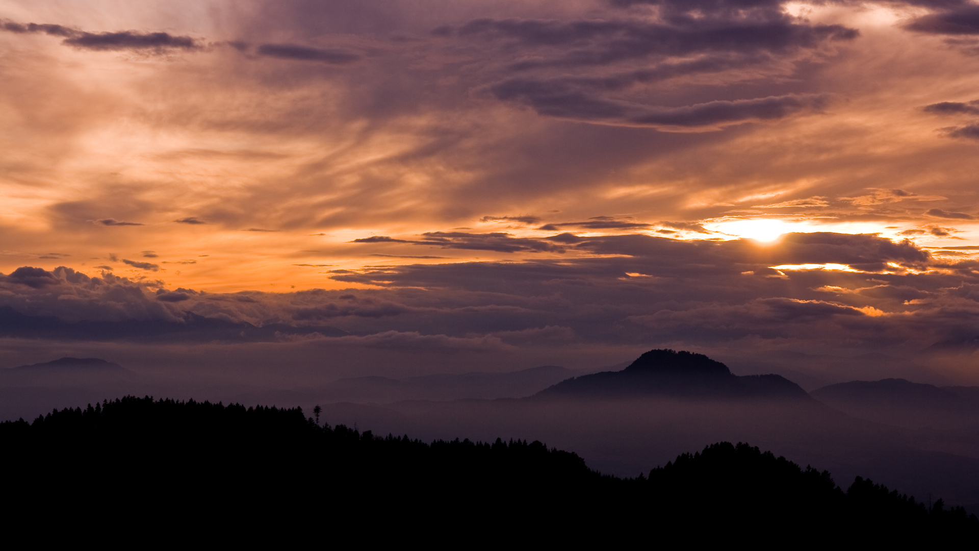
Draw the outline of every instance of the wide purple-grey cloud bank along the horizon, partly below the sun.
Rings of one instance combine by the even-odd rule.
[[[412,353],[748,338],[873,349],[924,348],[979,323],[979,291],[960,296],[979,288],[979,265],[936,260],[909,241],[839,233],[790,233],[768,245],[643,234],[565,241],[560,259],[341,270],[334,281],[369,288],[285,293],[167,289],[24,267],[0,276],[0,309],[11,309],[0,312],[0,332]],[[856,271],[769,268],[833,264]]]

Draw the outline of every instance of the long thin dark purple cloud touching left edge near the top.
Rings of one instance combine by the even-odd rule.
[[[11,32],[43,33],[63,36],[62,44],[86,50],[197,50],[203,46],[190,36],[174,36],[167,32],[86,32],[62,25],[4,23],[0,28]]]

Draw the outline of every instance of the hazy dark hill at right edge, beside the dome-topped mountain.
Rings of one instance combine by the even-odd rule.
[[[969,388],[885,378],[830,384],[812,395],[827,406],[876,423],[953,427],[979,421],[979,400],[970,397]]]

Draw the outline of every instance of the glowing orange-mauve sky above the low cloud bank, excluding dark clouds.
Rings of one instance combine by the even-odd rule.
[[[349,6],[350,29],[330,23],[319,32],[297,24],[303,3],[266,22],[260,14],[271,8],[261,3],[4,2],[0,14],[12,23],[164,31],[200,47],[99,50],[43,32],[0,34],[0,271],[66,265],[96,275],[110,266],[119,275],[214,290],[333,287],[328,270],[419,260],[371,254],[523,256],[363,246],[354,238],[414,239],[460,226],[543,237],[554,232],[535,229],[542,223],[593,217],[651,224],[647,231],[671,221],[720,232],[676,234],[684,238],[828,230],[923,246],[975,244],[979,142],[943,130],[975,115],[922,108],[975,99],[979,57],[967,41],[902,27],[926,8],[787,5],[808,18],[799,25],[845,25],[859,36],[622,95],[655,105],[657,95],[682,104],[688,94],[697,104],[821,94],[823,105],[767,121],[635,128],[494,100],[485,88],[500,66],[546,54],[481,48],[430,31],[476,12],[633,22],[655,21],[655,13],[616,13],[601,3],[407,13],[420,4],[399,4],[403,17]],[[226,44],[235,40],[360,57],[346,65],[262,57]],[[629,59],[578,75],[660,62]],[[540,224],[481,222],[521,215]],[[206,224],[174,222],[186,219]],[[97,222],[105,220],[139,225]],[[928,233],[936,227],[948,235]],[[443,259],[423,259],[435,261]]]

